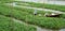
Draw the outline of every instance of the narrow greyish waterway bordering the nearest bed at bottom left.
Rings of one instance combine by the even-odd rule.
[[[12,18],[15,22],[20,22],[20,24],[24,24],[24,25],[28,25],[28,24],[25,24],[24,21],[22,20],[17,20],[15,18]],[[34,25],[31,25],[34,26]],[[65,31],[65,29],[61,29],[61,30],[51,30],[51,29],[44,29],[44,28],[41,28],[41,27],[38,27],[38,26],[34,26],[36,27],[37,31]]]

